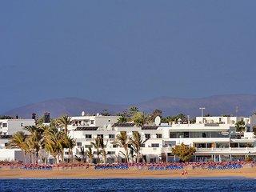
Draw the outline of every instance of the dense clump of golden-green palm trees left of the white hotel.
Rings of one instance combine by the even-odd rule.
[[[28,134],[25,134],[25,132]],[[54,157],[54,162],[60,160],[64,162],[64,149],[69,150],[70,158],[68,161],[73,161],[73,148],[75,140],[67,136],[62,130],[58,130],[54,124],[50,126],[25,126],[24,131],[19,131],[13,134],[10,138],[10,148],[20,148],[24,152],[24,161],[26,155],[30,157],[31,163],[38,163],[39,160],[46,161],[45,157],[39,154],[51,154]],[[41,152],[41,153],[40,153]]]

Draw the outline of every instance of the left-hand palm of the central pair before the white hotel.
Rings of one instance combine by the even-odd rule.
[[[126,162],[129,162],[129,144],[130,139],[128,138],[126,131],[121,131],[118,134],[113,142],[114,145],[117,145],[125,150],[125,153],[120,151],[119,153],[123,154],[126,158]]]

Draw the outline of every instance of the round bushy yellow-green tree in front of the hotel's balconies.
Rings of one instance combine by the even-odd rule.
[[[189,162],[190,159],[193,157],[195,151],[196,150],[194,147],[186,146],[184,145],[184,143],[172,148],[172,153],[174,155],[177,155],[182,162]]]

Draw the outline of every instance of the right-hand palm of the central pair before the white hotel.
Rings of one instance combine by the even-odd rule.
[[[138,162],[141,157],[141,147],[149,138],[142,139],[142,135],[138,133],[138,131],[133,132],[133,136],[130,138],[131,148],[134,150],[136,154],[136,162]]]

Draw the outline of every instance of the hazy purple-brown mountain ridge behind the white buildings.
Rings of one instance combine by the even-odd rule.
[[[110,105],[98,102],[90,102],[82,98],[56,98],[45,102],[38,102],[27,106],[21,106],[7,111],[6,115],[16,115],[22,118],[30,118],[32,113],[42,115],[50,112],[51,117],[61,114],[80,115],[82,110],[86,113],[96,114],[102,110],[109,110],[111,114],[122,112],[130,106],[138,106],[140,110],[151,112],[154,109],[162,110],[164,115],[178,113],[190,114],[191,117],[200,115],[200,106],[206,107],[205,114],[222,115],[250,115],[256,111],[256,95],[234,94],[217,95],[207,98],[154,98],[147,102],[133,105]]]

